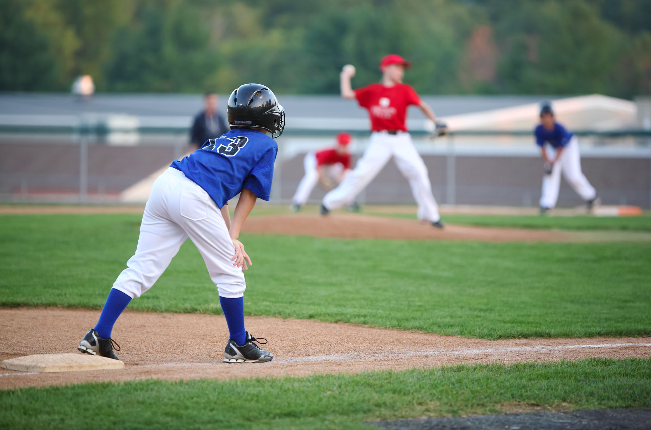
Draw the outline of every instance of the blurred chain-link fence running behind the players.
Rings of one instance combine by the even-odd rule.
[[[20,202],[118,203],[139,182],[188,151],[183,126],[138,126],[128,117],[80,117],[74,124],[0,128],[0,199]],[[651,132],[577,132],[585,175],[605,204],[651,202]],[[279,157],[271,199],[289,203],[303,176],[303,158],[331,146],[335,130],[291,130],[277,139]],[[528,132],[472,131],[413,141],[428,167],[439,203],[537,206],[542,167]],[[367,132],[353,132],[359,158]],[[151,180],[151,179],[150,179]],[[317,203],[324,190],[315,189]],[[146,199],[146,194],[143,199]],[[409,184],[393,162],[360,195],[362,203],[413,203]],[[131,200],[133,201],[133,199]],[[559,206],[581,203],[563,183]]]

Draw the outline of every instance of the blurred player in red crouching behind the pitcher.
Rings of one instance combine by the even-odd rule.
[[[339,133],[337,145],[334,148],[321,149],[316,152],[308,152],[303,160],[305,176],[296,188],[296,194],[292,197],[292,210],[298,212],[301,206],[305,205],[310,193],[317,183],[324,184],[327,188],[332,182],[340,182],[350,172],[350,134]],[[329,191],[329,190],[328,190]]]

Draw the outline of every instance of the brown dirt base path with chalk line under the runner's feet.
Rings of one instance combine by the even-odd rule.
[[[100,311],[0,309],[0,360],[76,352]],[[231,379],[310,373],[356,373],[457,363],[651,357],[648,337],[487,341],[368,328],[343,323],[247,317],[247,329],[269,339],[272,362],[225,364],[224,317],[127,311],[113,330],[122,370],[24,373],[0,369],[0,389],[136,379]]]

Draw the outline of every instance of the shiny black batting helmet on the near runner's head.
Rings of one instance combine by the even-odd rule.
[[[245,83],[232,92],[227,107],[230,128],[260,127],[274,139],[284,130],[284,109],[273,92],[259,83]]]

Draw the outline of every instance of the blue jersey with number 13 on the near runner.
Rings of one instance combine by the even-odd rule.
[[[221,209],[242,188],[269,200],[277,152],[278,145],[270,136],[251,128],[235,128],[206,141],[171,167],[206,190]]]

